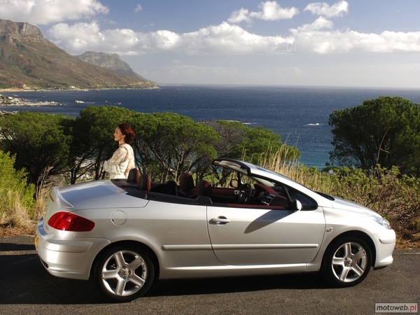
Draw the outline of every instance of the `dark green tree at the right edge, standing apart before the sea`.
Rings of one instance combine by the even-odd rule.
[[[420,174],[420,106],[401,97],[379,97],[330,114],[333,162],[371,169],[398,166]]]

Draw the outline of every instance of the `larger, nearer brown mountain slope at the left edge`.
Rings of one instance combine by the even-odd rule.
[[[68,89],[156,86],[140,76],[123,75],[71,56],[45,39],[34,25],[0,20],[0,88],[10,87]]]

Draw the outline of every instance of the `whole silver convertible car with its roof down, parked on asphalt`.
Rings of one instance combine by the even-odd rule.
[[[248,162],[213,164],[208,181],[136,169],[53,188],[35,238],[43,266],[125,302],[158,279],[321,272],[354,286],[393,262],[395,232],[374,211]]]

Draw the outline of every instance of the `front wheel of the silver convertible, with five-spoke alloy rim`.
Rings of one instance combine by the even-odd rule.
[[[343,237],[325,252],[321,273],[332,286],[356,286],[365,279],[372,267],[372,251],[357,237]]]

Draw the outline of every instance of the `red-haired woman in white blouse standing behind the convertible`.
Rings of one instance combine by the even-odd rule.
[[[119,148],[113,153],[112,158],[104,162],[104,171],[109,173],[110,179],[127,179],[128,172],[134,168],[134,152],[131,146],[134,130],[125,123],[116,127],[114,140],[118,141]]]

